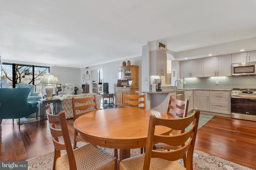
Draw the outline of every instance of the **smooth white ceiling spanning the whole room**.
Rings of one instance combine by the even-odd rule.
[[[4,62],[82,68],[159,40],[184,57],[256,37],[255,9],[256,0],[0,0],[0,52]]]

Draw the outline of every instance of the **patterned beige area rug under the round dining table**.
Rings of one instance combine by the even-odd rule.
[[[84,143],[78,143],[77,145],[82,146],[84,145]],[[104,150],[110,155],[114,155],[114,149],[104,147],[100,147],[100,149]],[[62,152],[62,154],[64,153],[65,151]],[[131,149],[131,156],[135,156],[138,154],[140,154],[140,149]],[[51,152],[44,156],[31,158],[27,160],[28,170],[52,170],[53,159],[54,152]],[[180,159],[179,162],[183,164],[182,159]],[[193,164],[193,170],[253,170],[251,168],[247,168],[246,166],[230,162],[228,160],[196,149],[194,150]]]

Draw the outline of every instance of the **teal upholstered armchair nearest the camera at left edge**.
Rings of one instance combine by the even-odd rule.
[[[38,102],[28,103],[30,88],[0,88],[0,124],[2,119],[19,119],[36,112],[38,116]]]

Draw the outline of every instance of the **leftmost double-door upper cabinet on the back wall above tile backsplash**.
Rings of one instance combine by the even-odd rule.
[[[203,77],[203,59],[180,61],[180,78]]]

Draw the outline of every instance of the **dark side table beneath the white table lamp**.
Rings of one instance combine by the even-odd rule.
[[[52,104],[53,109],[52,109],[52,114],[56,115],[60,113],[60,104],[61,100],[59,99],[52,99],[52,100],[46,100],[46,99],[40,99],[40,106],[41,106],[41,120],[46,121],[47,116],[46,116],[46,105],[47,104]]]

